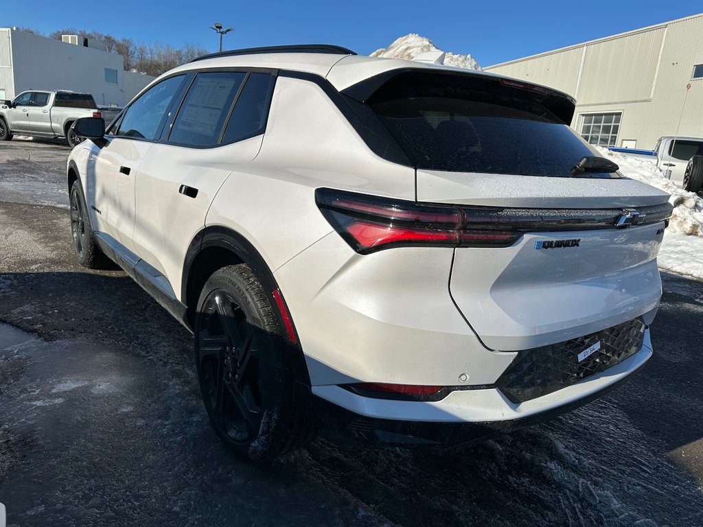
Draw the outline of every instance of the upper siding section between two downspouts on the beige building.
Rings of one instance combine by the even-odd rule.
[[[579,104],[649,99],[665,32],[662,27],[586,46]]]

